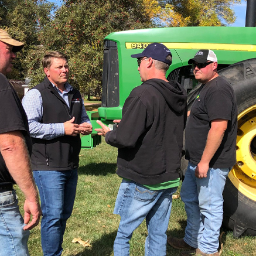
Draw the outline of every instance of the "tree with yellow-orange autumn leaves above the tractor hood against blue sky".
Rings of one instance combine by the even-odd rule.
[[[159,0],[156,26],[225,26],[235,22],[232,9],[240,0]]]

